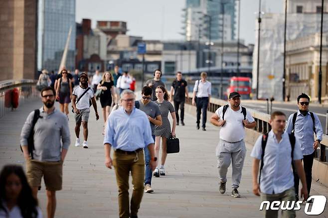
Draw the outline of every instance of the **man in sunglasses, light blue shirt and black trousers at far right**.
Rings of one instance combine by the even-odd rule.
[[[307,180],[308,193],[310,195],[312,184],[312,166],[315,152],[323,140],[323,127],[318,115],[309,110],[310,97],[302,93],[297,98],[299,110],[291,114],[288,118],[286,132],[294,134],[299,140],[303,153],[303,165]],[[316,134],[316,140],[314,134]],[[294,168],[294,165],[293,165]],[[294,170],[295,197],[299,199],[300,177]]]

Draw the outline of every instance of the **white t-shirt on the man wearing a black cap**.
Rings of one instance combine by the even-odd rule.
[[[218,108],[215,113],[222,118],[223,106]],[[241,112],[241,106],[238,111],[228,107],[224,113],[225,123],[220,129],[220,139],[228,142],[236,142],[244,139],[245,127],[243,125],[244,114]],[[248,122],[254,122],[255,119],[252,117],[250,111],[246,109],[246,119]]]

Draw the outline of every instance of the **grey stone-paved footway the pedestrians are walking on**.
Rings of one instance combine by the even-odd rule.
[[[57,103],[56,103],[57,104]],[[99,104],[99,103],[98,103]],[[0,119],[0,167],[9,163],[24,164],[19,149],[19,134],[27,114],[41,107],[40,101],[31,101],[8,112]],[[58,107],[57,107],[58,108]],[[98,110],[100,105],[98,105]],[[101,109],[99,110],[101,113]],[[145,194],[140,218],[260,218],[260,198],[252,194],[251,158],[252,146],[247,145],[247,158],[241,186],[242,198],[231,197],[231,169],[228,171],[227,192],[218,192],[215,146],[218,143],[218,128],[207,122],[207,131],[196,130],[195,119],[185,115],[185,126],[177,126],[180,153],[169,154],[166,176],[153,178],[153,194]],[[98,121],[92,109],[89,120],[89,149],[75,147],[74,118],[69,115],[71,146],[64,162],[63,190],[57,192],[57,218],[117,218],[118,191],[114,170],[104,165],[103,118]],[[80,137],[82,138],[82,127]],[[130,179],[131,184],[131,179]],[[130,193],[131,193],[130,185]],[[311,194],[328,196],[328,189],[313,181]],[[40,207],[46,215],[44,185],[38,194]],[[304,205],[297,212],[304,214]],[[328,217],[328,209],[317,217]]]

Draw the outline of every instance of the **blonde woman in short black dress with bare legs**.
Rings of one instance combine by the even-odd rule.
[[[100,95],[100,104],[103,109],[104,121],[106,122],[107,117],[111,112],[112,102],[115,102],[114,82],[113,76],[110,72],[105,72],[102,80],[97,86],[97,90],[102,90]]]

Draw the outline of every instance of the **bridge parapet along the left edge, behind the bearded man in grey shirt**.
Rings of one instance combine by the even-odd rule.
[[[39,97],[36,90],[36,80],[5,80],[0,81],[0,118],[7,111],[14,110],[11,104],[11,91],[16,88],[18,91],[18,107],[21,107],[25,101]]]

